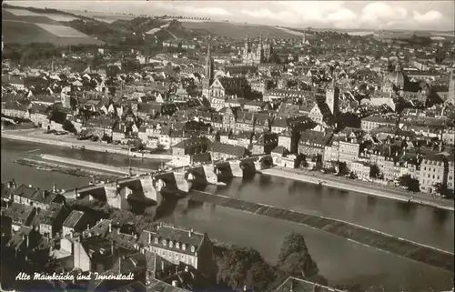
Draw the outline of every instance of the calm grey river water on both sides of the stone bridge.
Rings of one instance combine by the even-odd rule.
[[[85,159],[96,163],[127,165],[125,156],[77,151],[57,146],[45,146],[2,139],[2,181],[15,178],[41,188],[54,183],[60,188],[86,184],[89,179],[39,171],[20,166],[18,157],[53,154]],[[39,149],[39,150],[36,150]],[[146,166],[147,164],[147,166]],[[140,158],[131,162],[134,167],[156,168],[153,162]],[[207,191],[259,203],[288,207],[311,214],[343,219],[361,226],[376,228],[399,237],[415,240],[433,247],[453,251],[453,212],[430,206],[407,206],[399,201],[313,186],[286,178],[255,176],[243,181],[234,179],[227,186],[207,186]],[[163,218],[164,221],[207,232],[219,241],[254,247],[270,262],[278,258],[283,238],[289,231],[302,233],[311,255],[318,263],[321,275],[331,284],[359,283],[374,291],[440,291],[452,287],[450,272],[397,257],[371,247],[309,227],[276,219],[242,213],[220,206],[197,206],[184,215]]]

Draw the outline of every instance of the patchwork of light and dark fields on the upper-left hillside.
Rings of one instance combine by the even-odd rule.
[[[59,19],[59,20],[56,20]],[[54,45],[102,45],[103,42],[64,25],[69,15],[39,13],[2,7],[2,35],[5,44],[51,43]]]

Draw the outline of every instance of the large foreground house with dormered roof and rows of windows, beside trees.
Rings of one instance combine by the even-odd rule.
[[[205,275],[213,275],[213,244],[207,234],[161,223],[157,230],[144,230],[138,239],[147,252],[153,252],[167,261],[185,263]]]

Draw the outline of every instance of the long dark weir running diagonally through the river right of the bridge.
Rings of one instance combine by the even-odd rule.
[[[247,202],[229,196],[221,196],[200,191],[192,192],[188,199],[305,225],[307,227],[329,232],[339,237],[344,237],[350,241],[359,243],[360,245],[378,248],[399,257],[406,257],[446,271],[454,271],[453,253],[439,248],[422,245],[408,239],[394,237],[346,221],[325,216],[313,216],[276,206]]]

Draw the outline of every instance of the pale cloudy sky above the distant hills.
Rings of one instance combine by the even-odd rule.
[[[188,15],[258,25],[339,29],[455,30],[455,1],[5,1],[11,5]]]

